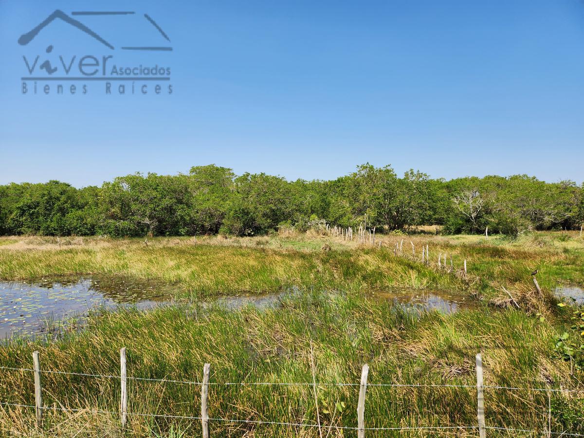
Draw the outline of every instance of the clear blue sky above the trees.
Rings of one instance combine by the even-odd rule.
[[[60,19],[18,43],[55,9],[115,49]],[[0,47],[0,183],[100,185],[210,163],[331,179],[364,162],[584,180],[581,0],[1,0]],[[170,67],[172,93],[77,81],[89,92],[44,95],[50,81],[23,95],[23,55],[46,77],[45,59],[86,54],[112,55],[108,69]]]

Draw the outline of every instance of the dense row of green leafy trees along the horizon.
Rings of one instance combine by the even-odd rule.
[[[1,235],[258,235],[315,224],[378,232],[443,225],[447,233],[519,235],[580,228],[584,186],[527,175],[432,179],[391,166],[357,166],[335,180],[289,182],[194,166],[188,174],[120,176],[101,187],[67,183],[0,186]]]

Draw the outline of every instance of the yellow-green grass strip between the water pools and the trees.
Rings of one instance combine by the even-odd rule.
[[[0,239],[0,242],[3,239]],[[402,243],[403,241],[403,243]],[[541,233],[519,241],[503,237],[432,235],[377,238],[358,245],[324,236],[258,238],[11,238],[0,246],[0,280],[47,275],[105,274],[158,280],[176,286],[177,297],[193,294],[305,289],[362,291],[370,288],[465,288],[491,299],[502,287],[518,294],[533,288],[530,272],[548,290],[559,282],[584,283],[584,240]],[[378,244],[381,243],[381,248]],[[395,245],[401,256],[394,254]],[[412,246],[414,251],[412,252]],[[424,246],[430,265],[422,265]],[[438,269],[447,254],[454,271]],[[469,278],[460,274],[467,260]]]

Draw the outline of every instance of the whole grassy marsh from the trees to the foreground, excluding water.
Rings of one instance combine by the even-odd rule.
[[[395,243],[411,251],[394,255]],[[0,277],[26,280],[56,274],[109,274],[172,283],[176,294],[269,291],[298,286],[273,308],[240,311],[185,301],[148,312],[92,315],[86,328],[49,343],[12,340],[0,348],[0,365],[30,368],[40,351],[44,370],[115,376],[119,349],[127,348],[128,375],[200,381],[211,363],[211,418],[354,427],[363,363],[369,383],[475,385],[475,354],[485,363],[485,385],[583,389],[581,371],[559,359],[558,336],[572,324],[569,306],[558,307],[550,291],[562,282],[584,284],[584,245],[577,234],[545,233],[519,241],[492,237],[381,238],[382,246],[359,246],[319,236],[253,239],[11,238],[0,248]],[[1,240],[1,239],[0,239]],[[420,263],[429,245],[430,266]],[[59,247],[60,245],[60,247]],[[324,248],[323,248],[324,246]],[[330,250],[329,248],[330,247]],[[454,272],[437,266],[439,253],[453,257]],[[468,276],[460,268],[467,259]],[[537,294],[530,272],[544,294]],[[440,287],[463,291],[476,310],[451,315],[405,311],[366,300],[367,288]],[[509,290],[519,305],[502,290]],[[311,383],[257,385],[254,383]],[[224,385],[224,383],[246,383]],[[43,374],[46,412],[43,436],[120,436],[119,380]],[[199,436],[200,387],[186,383],[129,381],[128,436]],[[584,433],[582,392],[555,392],[552,432]],[[0,370],[0,399],[34,404],[30,371]],[[317,415],[318,405],[318,415]],[[489,388],[487,425],[543,431],[548,398],[543,391]],[[66,411],[79,409],[81,411]],[[469,387],[371,386],[367,427],[474,426],[476,391]],[[99,412],[96,412],[98,410]],[[148,415],[136,415],[148,414]],[[154,415],[172,415],[168,418]],[[318,427],[212,420],[211,436],[318,437]],[[34,412],[0,407],[4,434],[37,436]],[[329,433],[330,431],[330,433]],[[354,436],[350,429],[323,429],[323,436]],[[474,429],[440,436],[475,436]],[[489,436],[532,436],[488,431]],[[367,436],[395,436],[369,430]],[[399,436],[433,436],[437,430],[403,430]]]

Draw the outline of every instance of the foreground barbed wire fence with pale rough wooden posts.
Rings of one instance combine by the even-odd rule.
[[[224,423],[249,423],[253,425],[276,425],[276,426],[288,426],[288,427],[315,427],[319,430],[354,430],[357,432],[358,438],[364,438],[366,436],[366,431],[419,431],[419,432],[463,432],[469,430],[476,430],[479,433],[480,438],[486,436],[488,430],[507,432],[507,433],[530,433],[540,436],[584,436],[580,433],[571,432],[553,432],[551,426],[551,404],[548,404],[548,424],[545,430],[536,429],[524,429],[524,428],[512,428],[512,427],[499,427],[499,426],[489,426],[485,421],[485,390],[504,390],[504,391],[541,391],[548,394],[548,401],[550,401],[551,394],[561,393],[569,394],[572,392],[584,393],[584,389],[556,389],[556,388],[530,388],[530,387],[512,387],[503,385],[484,385],[482,378],[482,357],[481,354],[477,354],[476,360],[476,374],[477,374],[477,384],[476,385],[456,385],[456,384],[406,384],[406,383],[367,383],[367,377],[369,374],[369,366],[364,364],[361,370],[361,381],[360,383],[330,383],[330,382],[211,382],[210,377],[210,364],[204,364],[203,369],[203,380],[201,381],[190,381],[190,380],[170,380],[170,379],[160,379],[160,378],[149,378],[149,377],[133,377],[127,376],[126,374],[126,349],[122,348],[120,350],[120,375],[113,374],[93,374],[93,373],[74,373],[70,371],[57,371],[57,370],[42,370],[40,367],[40,357],[39,352],[33,352],[33,368],[18,368],[18,367],[4,367],[0,366],[1,370],[7,371],[25,371],[34,373],[34,405],[13,403],[9,401],[0,400],[0,405],[15,408],[30,408],[34,409],[36,413],[36,425],[41,427],[43,422],[44,411],[50,409],[55,411],[63,412],[90,412],[90,413],[105,413],[109,415],[119,416],[120,425],[122,428],[126,427],[128,416],[137,417],[151,417],[151,418],[168,418],[168,419],[189,419],[189,420],[200,420],[201,428],[203,431],[203,438],[208,438],[210,434],[209,422],[224,422]],[[118,411],[107,411],[106,409],[88,409],[88,408],[65,408],[63,406],[45,406],[43,404],[43,387],[41,374],[61,374],[66,376],[84,376],[92,378],[109,378],[120,380],[120,406]],[[127,382],[131,381],[150,381],[159,383],[177,383],[186,385],[196,385],[201,387],[201,415],[200,416],[189,416],[189,415],[169,415],[169,414],[158,414],[158,413],[141,413],[141,412],[128,412],[128,393],[127,393]],[[277,421],[266,421],[266,420],[252,420],[252,419],[238,419],[238,418],[215,418],[208,415],[207,410],[207,399],[209,387],[217,386],[304,386],[304,387],[321,387],[321,386],[335,386],[335,387],[359,387],[359,401],[357,403],[357,426],[342,426],[342,425],[324,425],[320,421],[314,423],[307,422],[277,422]],[[365,399],[367,387],[409,387],[409,388],[472,388],[477,390],[477,423],[475,425],[460,425],[460,426],[399,426],[399,427],[367,427],[365,422]]]

